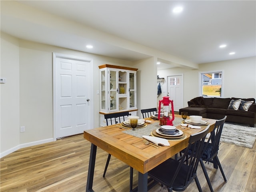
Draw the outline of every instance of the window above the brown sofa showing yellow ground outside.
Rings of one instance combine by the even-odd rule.
[[[200,93],[203,97],[221,97],[222,71],[200,73]]]

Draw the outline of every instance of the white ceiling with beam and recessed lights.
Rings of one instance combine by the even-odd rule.
[[[170,67],[182,60],[200,64],[256,56],[255,0],[10,2],[1,1],[1,30],[25,40],[130,61],[160,53],[170,58]],[[177,5],[184,10],[175,15]],[[51,26],[48,16],[67,23]],[[86,28],[71,33],[74,24]],[[94,48],[87,50],[85,44]]]

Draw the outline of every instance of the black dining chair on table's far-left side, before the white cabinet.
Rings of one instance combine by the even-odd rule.
[[[112,114],[105,114],[104,118],[106,120],[106,124],[108,126],[108,121],[110,121],[110,124],[118,124],[125,120],[127,116],[129,116],[129,112],[120,112],[120,113],[112,113]],[[106,162],[106,166],[104,169],[103,177],[106,175],[106,171],[108,169],[108,164],[110,162],[111,154],[108,154],[108,159]],[[130,167],[130,191],[132,191],[132,180],[133,180],[133,168]]]

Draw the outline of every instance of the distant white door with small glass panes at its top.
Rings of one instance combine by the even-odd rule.
[[[174,111],[183,108],[183,75],[168,76],[168,96],[173,100]]]

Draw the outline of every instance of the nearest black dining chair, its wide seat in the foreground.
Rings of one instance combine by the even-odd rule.
[[[172,192],[172,190],[184,191],[193,180],[195,180],[198,190],[202,192],[196,170],[202,155],[202,147],[209,127],[210,125],[203,131],[190,135],[188,146],[180,161],[170,158],[150,170],[148,176],[156,182],[160,182],[161,185],[166,186],[168,192]],[[192,150],[191,152],[194,156],[188,160],[188,164],[184,164],[186,155],[190,150]]]

